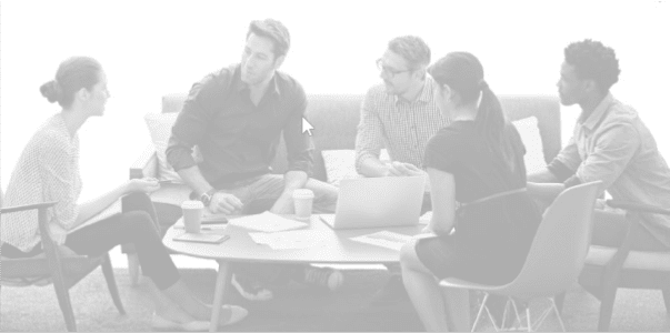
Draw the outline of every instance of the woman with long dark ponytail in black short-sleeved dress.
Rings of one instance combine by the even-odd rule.
[[[424,231],[432,236],[401,250],[402,279],[428,331],[470,331],[468,292],[442,297],[438,281],[511,282],[541,216],[526,193],[526,149],[479,60],[453,52],[428,72],[438,107],[452,122],[426,149],[433,214]]]

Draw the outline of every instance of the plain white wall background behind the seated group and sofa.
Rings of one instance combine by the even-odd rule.
[[[160,3],[160,4],[158,4]],[[97,58],[112,99],[80,131],[82,199],[128,178],[149,143],[147,112],[206,73],[237,62],[249,21],[281,20],[292,38],[283,70],[308,93],[362,93],[379,82],[388,40],[418,34],[433,60],[467,50],[497,93],[557,94],[563,48],[598,39],[622,69],[612,92],[633,105],[670,159],[670,4],[667,1],[2,1],[0,6],[0,183],[26,142],[58,112],[39,93],[63,59]],[[572,128],[578,109],[563,112]],[[568,140],[568,137],[563,139]]]

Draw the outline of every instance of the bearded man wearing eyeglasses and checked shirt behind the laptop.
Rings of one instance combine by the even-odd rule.
[[[426,144],[449,124],[433,102],[434,81],[426,73],[429,63],[430,48],[414,36],[392,39],[377,60],[383,83],[368,90],[361,108],[356,138],[358,173],[364,176],[426,175]],[[380,160],[382,148],[387,149],[391,161]],[[427,189],[422,213],[429,210]],[[399,268],[388,269],[392,276],[374,296],[373,305],[407,300]]]

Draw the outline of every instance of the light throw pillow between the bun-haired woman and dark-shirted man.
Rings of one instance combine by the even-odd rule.
[[[147,122],[153,148],[156,149],[156,157],[158,158],[158,179],[161,181],[183,183],[174,169],[170,167],[168,158],[166,157],[166,149],[168,149],[172,125],[174,124],[178,114],[178,112],[147,113],[144,115],[144,121]],[[193,149],[193,158],[196,161],[202,161],[198,147]]]

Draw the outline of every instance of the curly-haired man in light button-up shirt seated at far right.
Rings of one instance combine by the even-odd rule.
[[[548,168],[528,176],[529,191],[553,199],[563,189],[602,181],[614,200],[670,206],[670,169],[634,109],[609,92],[619,79],[614,51],[591,40],[571,43],[558,82],[563,105],[579,104],[572,139]],[[532,183],[538,182],[538,183]],[[626,215],[596,210],[592,243],[619,246]],[[632,235],[632,250],[670,249],[670,218],[644,214]]]

